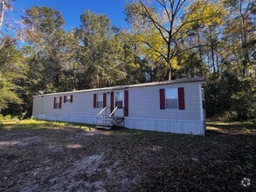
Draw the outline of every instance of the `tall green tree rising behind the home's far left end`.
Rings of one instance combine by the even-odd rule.
[[[47,92],[61,91],[61,70],[64,63],[66,33],[58,10],[32,7],[25,10],[25,38],[33,47],[33,60],[44,74],[42,87]],[[33,62],[32,62],[33,63]]]

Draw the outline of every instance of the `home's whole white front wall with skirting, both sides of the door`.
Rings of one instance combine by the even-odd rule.
[[[184,87],[185,110],[160,109],[159,89]],[[171,132],[178,134],[204,134],[202,120],[201,82],[140,86],[128,88],[128,117],[124,127]],[[110,106],[110,92],[86,91],[37,96],[33,103],[33,116],[40,120],[57,120],[96,124],[100,108],[93,108],[93,94],[107,93],[107,106]],[[73,103],[64,103],[64,96],[73,95]],[[62,97],[61,109],[53,108],[54,97]]]

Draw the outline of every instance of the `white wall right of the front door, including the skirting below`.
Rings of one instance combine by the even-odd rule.
[[[184,87],[185,109],[161,110],[159,89],[177,87]],[[130,88],[129,116],[124,126],[178,134],[204,134],[200,94],[201,83]]]

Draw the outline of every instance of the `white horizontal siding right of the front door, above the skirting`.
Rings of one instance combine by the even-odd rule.
[[[129,89],[129,117],[200,120],[198,84],[174,84],[164,86],[145,86]],[[161,110],[159,89],[184,87],[185,110]]]

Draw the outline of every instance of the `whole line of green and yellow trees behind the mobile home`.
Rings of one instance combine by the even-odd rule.
[[[38,92],[204,76],[207,116],[256,116],[254,1],[137,0],[125,5],[126,29],[85,10],[71,31],[50,7],[4,19],[14,3],[0,1],[3,114],[31,115]]]

